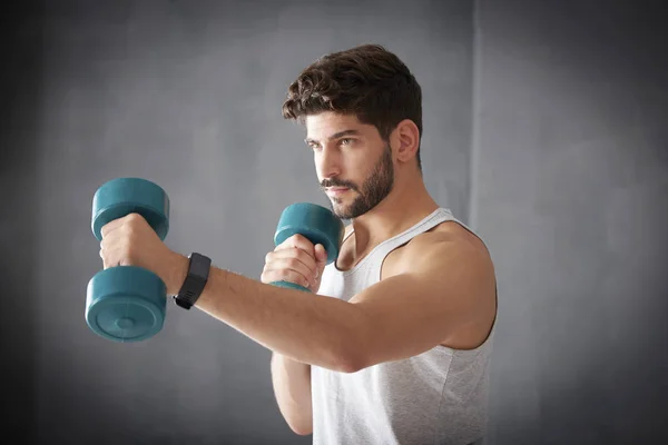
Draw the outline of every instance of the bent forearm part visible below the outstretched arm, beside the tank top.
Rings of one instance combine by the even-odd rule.
[[[278,408],[289,427],[297,434],[311,434],[313,431],[311,365],[274,353],[272,383]]]

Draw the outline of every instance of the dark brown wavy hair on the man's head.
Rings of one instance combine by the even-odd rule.
[[[289,86],[285,119],[335,111],[373,125],[383,140],[403,119],[411,119],[422,139],[422,90],[409,68],[380,44],[363,44],[318,58]],[[420,145],[418,168],[422,170]]]

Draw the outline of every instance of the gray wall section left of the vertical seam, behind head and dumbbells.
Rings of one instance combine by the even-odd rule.
[[[205,314],[170,305],[140,344],[88,329],[86,285],[101,268],[92,194],[114,177],[155,180],[173,204],[171,248],[258,278],[281,210],[326,202],[303,128],[281,117],[288,83],[326,52],[379,42],[422,83],[428,187],[468,220],[472,19],[461,1],[60,1],[17,14],[0,178],[10,431],[310,443],[281,417],[269,352]]]

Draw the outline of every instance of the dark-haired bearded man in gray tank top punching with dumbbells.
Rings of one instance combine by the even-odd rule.
[[[325,56],[289,87],[284,117],[305,123],[332,209],[352,221],[326,267],[323,246],[294,236],[267,254],[262,283],[207,265],[206,284],[188,293],[191,260],[141,217],[102,229],[105,268],[146,267],[177,301],[273,352],[281,413],[315,444],[470,444],[484,435],[494,269],[481,239],[425,189],[421,97],[405,65],[380,46]],[[276,280],[315,295],[268,285]]]

